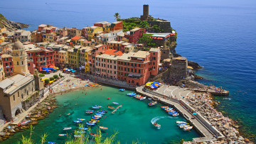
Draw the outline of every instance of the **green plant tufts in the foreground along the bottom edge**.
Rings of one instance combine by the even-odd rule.
[[[82,127],[82,125],[79,125],[79,127]],[[31,126],[29,128],[30,130],[30,135],[28,138],[24,137],[22,135],[21,141],[18,142],[18,144],[35,144],[35,142],[33,141],[33,127]],[[110,137],[107,137],[105,139],[102,138],[102,133],[100,130],[97,131],[97,135],[99,136],[95,136],[95,140],[91,140],[89,133],[91,132],[90,128],[88,129],[87,134],[83,134],[83,133],[78,133],[77,131],[75,131],[75,135],[80,135],[79,138],[71,138],[68,137],[68,140],[65,141],[65,144],[87,144],[87,143],[95,143],[95,144],[112,144],[114,143],[114,140],[118,134],[118,132],[114,133],[113,135],[111,135]],[[47,134],[43,134],[41,135],[41,144],[46,143],[47,141]],[[117,142],[120,143],[120,142]]]

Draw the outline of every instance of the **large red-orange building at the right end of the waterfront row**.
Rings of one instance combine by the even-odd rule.
[[[155,48],[149,52],[124,53],[117,60],[117,79],[137,86],[145,84],[151,75],[159,72],[160,52],[159,48]]]

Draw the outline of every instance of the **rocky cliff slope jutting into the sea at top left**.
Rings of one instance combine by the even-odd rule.
[[[0,13],[0,27],[4,26],[8,31],[16,31],[21,28],[28,28],[29,25],[24,23],[17,23],[14,21],[9,21]]]

